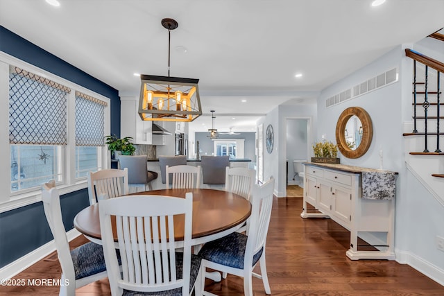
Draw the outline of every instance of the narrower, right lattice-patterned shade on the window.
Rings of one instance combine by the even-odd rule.
[[[104,146],[107,103],[76,92],[76,146]]]

